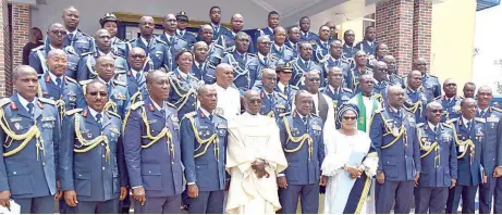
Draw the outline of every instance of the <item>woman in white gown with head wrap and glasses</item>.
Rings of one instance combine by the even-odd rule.
[[[369,136],[357,130],[358,109],[352,104],[343,105],[336,115],[341,129],[336,130],[334,141],[325,147],[326,159],[322,175],[328,176],[325,214],[366,214],[375,205],[367,204],[375,176],[378,156],[371,147]]]

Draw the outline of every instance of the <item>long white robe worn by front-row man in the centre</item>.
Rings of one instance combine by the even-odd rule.
[[[226,213],[273,214],[281,208],[277,173],[287,167],[279,127],[273,118],[247,112],[229,123],[226,170],[231,175]],[[268,163],[269,177],[258,179],[252,163]]]

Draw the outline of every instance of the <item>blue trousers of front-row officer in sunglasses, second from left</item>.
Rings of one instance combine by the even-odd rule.
[[[76,206],[66,206],[66,212],[69,214],[117,214],[118,211],[119,199],[108,201],[78,201]]]

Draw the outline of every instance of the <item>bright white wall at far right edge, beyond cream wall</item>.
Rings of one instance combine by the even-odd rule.
[[[493,94],[498,96],[502,94],[502,28],[500,23],[502,23],[502,5],[476,13],[474,41],[476,51],[473,60],[473,80],[478,86],[491,86]]]

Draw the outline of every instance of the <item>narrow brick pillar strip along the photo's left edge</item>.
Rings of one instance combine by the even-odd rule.
[[[9,29],[9,4],[0,0],[0,98],[12,94],[11,40]]]

